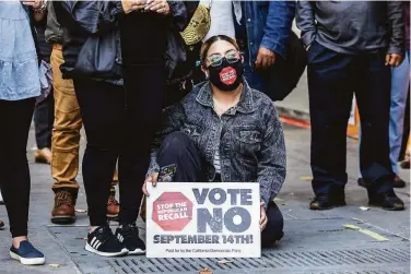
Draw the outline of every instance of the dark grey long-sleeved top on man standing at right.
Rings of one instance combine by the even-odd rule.
[[[401,1],[298,1],[297,26],[306,46],[314,40],[342,53],[388,48],[402,55]]]

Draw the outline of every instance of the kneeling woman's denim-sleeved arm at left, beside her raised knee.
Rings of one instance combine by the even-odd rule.
[[[171,106],[163,111],[161,130],[155,133],[154,142],[151,147],[151,160],[146,176],[160,171],[160,166],[157,164],[157,152],[162,145],[162,142],[166,135],[178,131],[183,127],[185,119],[185,111],[181,103]]]

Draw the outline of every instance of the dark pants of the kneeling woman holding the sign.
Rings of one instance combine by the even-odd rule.
[[[176,166],[174,181],[207,181],[206,169],[200,154],[193,142],[184,132],[174,132],[165,138],[157,154],[157,163],[160,167]],[[274,202],[269,204],[267,216],[268,224],[261,233],[262,246],[271,246],[284,235],[284,219]]]

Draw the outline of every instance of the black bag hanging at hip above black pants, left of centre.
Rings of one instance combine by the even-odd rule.
[[[118,43],[116,29],[103,36],[89,36],[75,60],[74,78],[121,79],[121,67],[117,62]]]

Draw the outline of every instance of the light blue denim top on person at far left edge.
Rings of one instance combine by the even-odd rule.
[[[26,9],[0,1],[0,99],[20,100],[40,94],[36,47]]]

